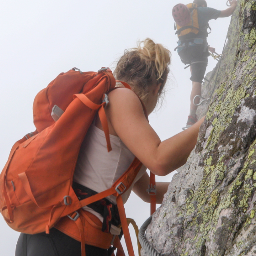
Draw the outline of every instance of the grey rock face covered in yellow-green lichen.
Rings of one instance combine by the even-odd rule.
[[[255,43],[256,2],[240,0],[219,74],[217,65],[207,76],[203,95],[217,79],[216,87],[208,108],[198,109],[206,119],[197,145],[147,229],[161,255],[256,255]]]

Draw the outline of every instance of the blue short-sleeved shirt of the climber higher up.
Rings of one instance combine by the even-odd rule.
[[[198,25],[199,32],[197,37],[206,38],[208,36],[207,33],[207,25],[209,20],[217,20],[221,14],[221,11],[210,8],[210,7],[197,7],[197,16],[198,16]]]

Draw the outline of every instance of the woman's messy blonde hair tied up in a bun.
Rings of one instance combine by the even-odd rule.
[[[135,93],[147,101],[150,86],[160,85],[163,92],[171,62],[171,53],[161,44],[147,38],[136,48],[125,50],[114,71],[115,78],[127,82]]]

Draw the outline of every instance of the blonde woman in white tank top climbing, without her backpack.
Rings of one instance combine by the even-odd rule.
[[[127,170],[136,156],[143,167],[133,186],[122,195],[127,201],[131,189],[144,201],[149,202],[147,192],[152,173],[165,176],[186,163],[195,147],[203,118],[186,131],[161,141],[152,129],[138,96],[150,114],[163,93],[170,64],[170,51],[160,44],[146,39],[137,48],[126,50],[115,68],[115,78],[127,82],[132,90],[118,88],[108,93],[109,104],[105,108],[112,151],[107,152],[106,138],[100,119],[96,116],[80,148],[74,172],[73,189],[78,198],[94,195],[109,189]],[[137,96],[138,95],[138,96]],[[99,157],[100,156],[100,157]],[[156,182],[156,202],[162,203],[168,182]],[[89,217],[106,225],[105,232],[120,235],[120,220],[115,197],[109,196],[83,207]],[[107,219],[111,218],[111,225]],[[95,222],[95,221],[94,221]],[[96,224],[95,224],[96,225]],[[98,224],[97,224],[98,225]],[[89,231],[90,232],[90,231]],[[107,256],[103,240],[86,244],[86,256]],[[81,255],[77,240],[52,228],[49,234],[26,235],[21,233],[16,247],[16,256],[76,256]]]

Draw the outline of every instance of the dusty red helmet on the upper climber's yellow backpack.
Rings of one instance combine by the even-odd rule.
[[[172,8],[172,17],[180,27],[185,26],[191,21],[190,10],[185,4],[176,4]]]

